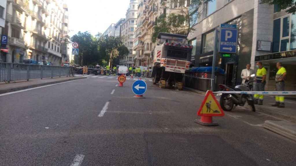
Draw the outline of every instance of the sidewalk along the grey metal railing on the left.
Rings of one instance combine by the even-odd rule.
[[[73,81],[76,79],[85,79],[86,77],[55,77],[46,79],[32,79],[30,81],[17,81],[16,83],[6,84],[5,82],[0,83],[0,94],[14,92],[18,90],[40,87],[49,84],[56,84],[61,82]]]

